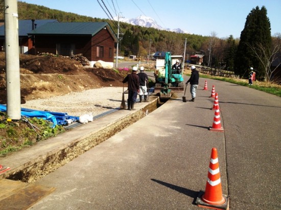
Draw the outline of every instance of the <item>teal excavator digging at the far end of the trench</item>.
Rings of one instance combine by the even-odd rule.
[[[172,92],[182,93],[184,90],[182,72],[172,69],[171,52],[166,52],[165,68],[156,69],[154,93],[160,94],[160,99],[169,99]]]

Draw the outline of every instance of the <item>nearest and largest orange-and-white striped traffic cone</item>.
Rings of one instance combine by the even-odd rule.
[[[229,209],[228,197],[222,195],[218,151],[216,148],[212,148],[205,192],[199,192],[195,203],[206,208]]]

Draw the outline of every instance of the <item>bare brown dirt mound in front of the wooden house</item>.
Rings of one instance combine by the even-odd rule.
[[[79,61],[20,55],[21,103],[101,87],[121,87],[125,72],[87,68]],[[0,52],[0,103],[7,103],[5,53]]]

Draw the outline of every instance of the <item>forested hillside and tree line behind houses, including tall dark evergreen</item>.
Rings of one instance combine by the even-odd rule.
[[[0,4],[4,8],[4,1]],[[4,19],[4,12],[0,16]],[[114,20],[63,12],[25,2],[18,2],[18,17],[57,19],[60,22],[105,21],[110,24],[116,36],[118,32],[118,22]],[[281,34],[271,36],[270,20],[265,7],[256,7],[250,11],[240,39],[235,39],[232,35],[218,38],[216,32],[210,32],[210,36],[179,34],[125,22],[120,22],[119,29],[119,55],[147,58],[149,52],[170,51],[172,55],[183,56],[186,39],[185,60],[190,60],[190,56],[200,52],[205,55],[202,65],[234,71],[241,77],[247,77],[249,68],[253,67],[257,78],[265,81],[269,81],[276,70],[272,69],[271,63],[276,60],[281,44]]]

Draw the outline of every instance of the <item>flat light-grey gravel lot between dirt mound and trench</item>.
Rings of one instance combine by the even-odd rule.
[[[125,88],[124,90],[127,90]],[[92,113],[93,116],[119,108],[122,101],[123,87],[105,87],[72,92],[62,96],[34,99],[21,104],[22,108],[48,110],[67,113],[69,116],[81,116]],[[125,100],[127,100],[125,94]]]

